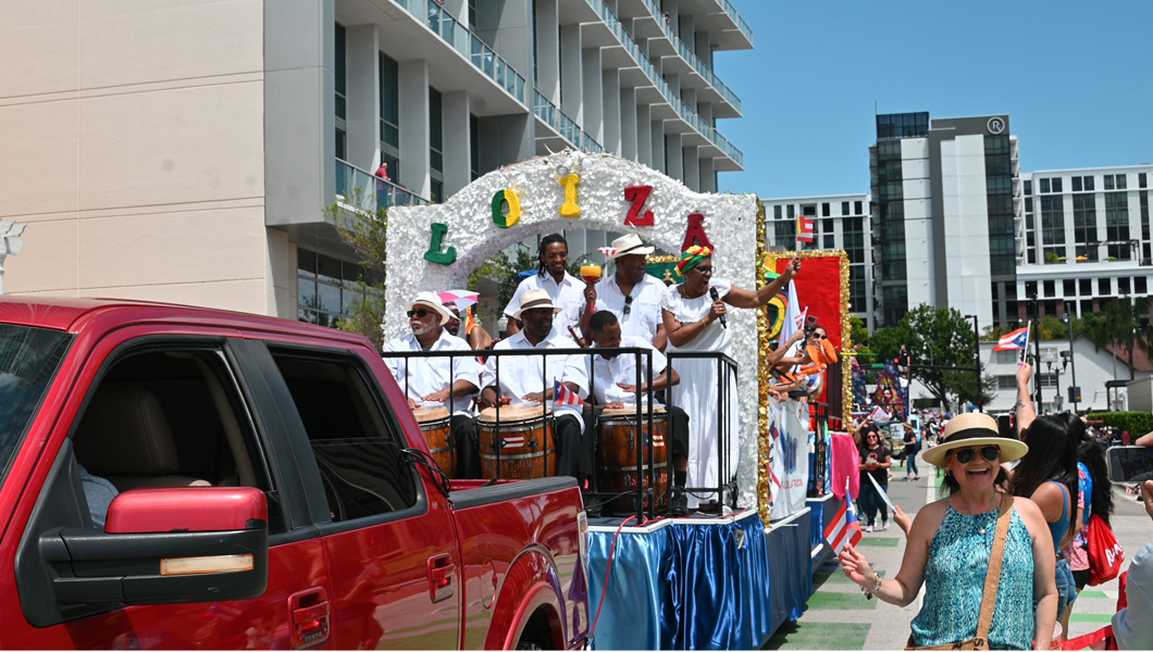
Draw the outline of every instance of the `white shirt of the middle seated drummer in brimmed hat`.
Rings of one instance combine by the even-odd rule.
[[[544,349],[572,349],[575,347],[576,344],[571,338],[560,336],[553,327],[549,332],[549,336],[535,347],[529,343],[525,332],[521,331],[497,342],[492,350],[537,349],[543,351]],[[492,387],[497,384],[497,358],[498,356],[490,356],[485,363],[484,373],[481,377],[482,387]],[[503,356],[499,359],[499,393],[504,396],[512,396],[513,403],[526,403],[527,401],[523,400],[526,394],[545,392],[549,387],[553,387],[557,380],[575,384],[579,388],[578,395],[581,399],[588,397],[588,377],[582,355]],[[543,384],[542,378],[544,379]],[[549,403],[552,402],[549,401]],[[581,416],[583,411],[581,405],[552,405],[552,408],[557,416],[568,414],[576,417],[583,430],[585,418]]]

